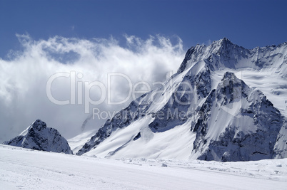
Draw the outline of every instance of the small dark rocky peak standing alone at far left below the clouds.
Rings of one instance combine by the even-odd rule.
[[[61,137],[61,134],[56,129],[46,127],[46,123],[41,120],[34,121],[19,136],[3,144],[26,149],[73,154],[66,139]]]

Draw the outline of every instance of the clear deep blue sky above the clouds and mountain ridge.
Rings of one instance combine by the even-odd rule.
[[[287,41],[287,1],[0,1],[0,57],[15,34],[38,39],[179,36],[187,48],[227,37],[246,48]]]

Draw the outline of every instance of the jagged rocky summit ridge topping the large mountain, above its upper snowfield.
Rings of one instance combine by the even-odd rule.
[[[178,73],[191,68],[193,64],[199,61],[206,62],[211,70],[247,67],[257,70],[270,67],[286,69],[287,57],[283,56],[286,51],[287,43],[246,49],[233,44],[228,38],[223,38],[219,41],[213,41],[209,46],[197,45],[188,49],[181,66],[178,68]]]

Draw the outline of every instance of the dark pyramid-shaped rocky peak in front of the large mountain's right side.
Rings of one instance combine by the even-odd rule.
[[[272,159],[283,116],[260,91],[225,73],[201,107],[191,130],[193,154],[221,162]]]

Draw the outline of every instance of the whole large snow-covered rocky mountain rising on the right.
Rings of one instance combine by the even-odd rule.
[[[287,43],[227,38],[190,48],[162,88],[139,97],[77,152],[247,161],[287,157]]]

